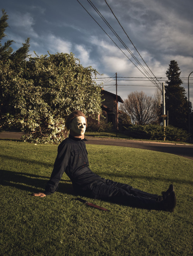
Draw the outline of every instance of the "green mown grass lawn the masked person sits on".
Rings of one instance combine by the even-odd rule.
[[[173,183],[174,213],[77,200],[66,174],[58,192],[44,191],[57,145],[0,140],[0,255],[192,255],[193,161],[144,149],[87,145],[90,168],[102,177],[161,194]]]

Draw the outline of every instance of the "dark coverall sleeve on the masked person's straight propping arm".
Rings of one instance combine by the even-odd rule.
[[[63,173],[68,165],[70,158],[71,146],[69,143],[61,143],[58,146],[58,155],[54,162],[54,168],[50,180],[46,184],[45,194],[49,195],[58,189],[58,184],[63,176]]]

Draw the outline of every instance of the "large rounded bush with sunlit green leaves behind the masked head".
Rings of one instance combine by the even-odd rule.
[[[101,111],[101,88],[74,55],[56,53],[14,64],[0,61],[0,129],[27,132],[24,141],[58,143],[67,132],[64,120],[74,110]]]

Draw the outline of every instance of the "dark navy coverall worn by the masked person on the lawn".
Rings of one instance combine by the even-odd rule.
[[[161,210],[161,196],[103,179],[91,172],[84,140],[69,135],[59,144],[51,178],[44,192],[46,195],[58,189],[59,181],[65,172],[71,179],[74,190],[83,196],[138,208]]]

